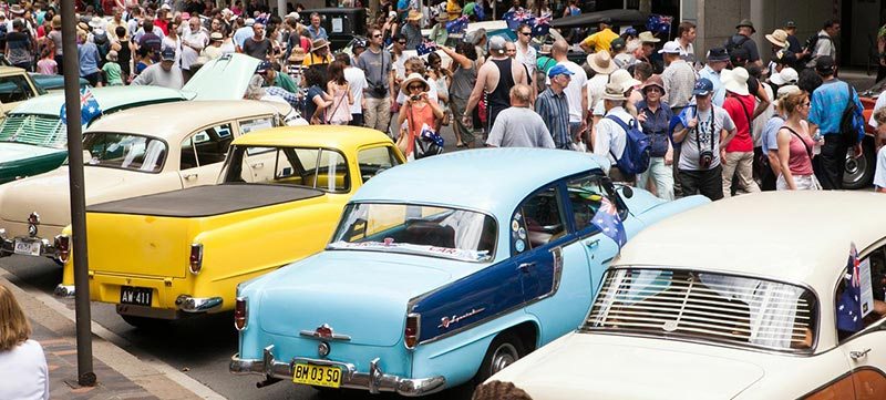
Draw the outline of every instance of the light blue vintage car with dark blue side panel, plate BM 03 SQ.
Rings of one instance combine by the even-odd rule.
[[[628,238],[708,203],[616,187],[595,160],[475,150],[372,177],[324,252],[238,287],[230,371],[422,396],[576,329],[618,253],[590,224],[604,197]]]

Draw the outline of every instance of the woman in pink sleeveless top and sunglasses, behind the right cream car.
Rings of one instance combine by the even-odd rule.
[[[779,163],[782,175],[775,183],[779,191],[815,191],[818,182],[812,171],[812,147],[806,117],[810,114],[810,96],[806,92],[789,94],[780,100],[787,120],[779,130]]]

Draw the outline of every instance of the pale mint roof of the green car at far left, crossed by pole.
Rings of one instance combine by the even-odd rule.
[[[92,88],[90,92],[103,111],[131,104],[186,100],[182,92],[159,86],[103,86]],[[59,116],[62,104],[64,92],[48,93],[22,102],[11,113]]]

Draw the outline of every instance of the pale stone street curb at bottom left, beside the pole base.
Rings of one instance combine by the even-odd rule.
[[[70,330],[65,331],[65,336],[75,336],[75,331],[66,324],[75,324],[74,310],[69,309],[51,295],[32,288],[19,287],[10,281],[10,278],[14,279],[14,275],[0,269],[0,285],[12,290],[29,318],[33,318],[38,324],[50,329]],[[64,317],[66,322],[59,321],[59,316]],[[99,322],[92,321],[91,330],[101,339],[93,340],[93,357],[152,394],[161,399],[225,399],[224,396],[165,362],[142,359],[124,350],[132,348],[133,345]],[[99,381],[101,382],[101,377],[99,377]]]

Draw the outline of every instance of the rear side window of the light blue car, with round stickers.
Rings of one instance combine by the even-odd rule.
[[[511,222],[515,253],[544,246],[566,234],[557,186],[542,189],[526,198]]]

